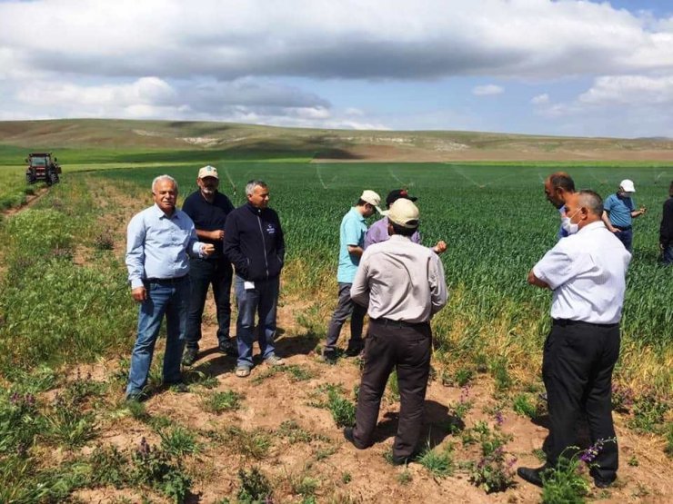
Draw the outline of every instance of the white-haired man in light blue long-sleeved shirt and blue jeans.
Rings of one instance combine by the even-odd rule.
[[[164,383],[186,391],[180,360],[190,292],[187,254],[205,257],[214,251],[212,244],[197,241],[194,222],[176,209],[177,183],[172,177],[156,177],[152,194],[155,204],[137,213],[126,232],[128,281],[134,301],[140,303],[126,400],[145,398],[144,388],[164,315]]]

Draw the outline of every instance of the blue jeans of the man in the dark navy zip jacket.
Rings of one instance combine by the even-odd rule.
[[[275,355],[276,305],[278,302],[279,277],[255,282],[254,289],[245,289],[244,280],[236,275],[236,340],[238,341],[237,365],[251,368],[252,347],[255,341],[255,314],[259,319],[257,342],[262,358]]]

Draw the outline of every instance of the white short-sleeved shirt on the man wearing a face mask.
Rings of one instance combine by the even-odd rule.
[[[553,291],[553,319],[613,324],[621,319],[630,260],[602,221],[591,222],[557,242],[533,273]]]

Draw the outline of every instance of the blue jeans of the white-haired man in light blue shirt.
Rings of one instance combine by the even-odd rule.
[[[136,344],[131,353],[126,395],[143,390],[152,365],[156,338],[161,321],[166,315],[166,353],[164,354],[164,382],[181,380],[180,360],[185,346],[189,278],[176,281],[146,282],[147,299],[138,311]]]

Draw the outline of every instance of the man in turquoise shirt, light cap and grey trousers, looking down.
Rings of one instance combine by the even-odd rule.
[[[339,227],[339,265],[336,270],[336,282],[339,285],[339,301],[332,319],[327,326],[327,337],[323,349],[323,360],[336,361],[336,341],[341,328],[350,315],[350,341],[346,354],[350,357],[359,355],[364,347],[362,326],[364,325],[366,308],[357,305],[350,299],[350,287],[356,277],[357,265],[364,252],[365,234],[367,233],[367,217],[374,212],[381,212],[381,197],[374,191],[363,191],[356,206],[352,207],[341,220]]]

